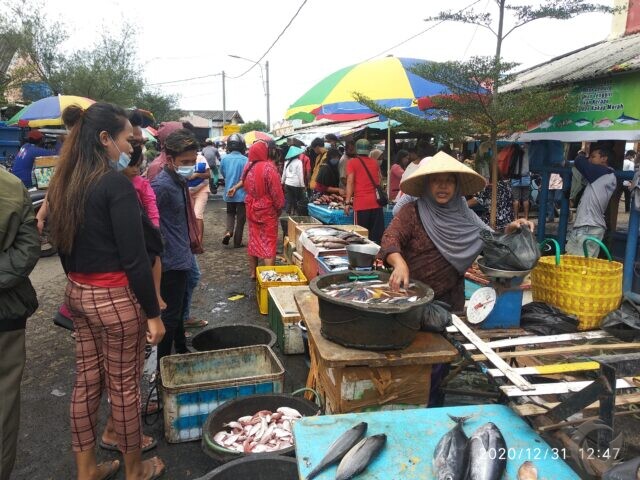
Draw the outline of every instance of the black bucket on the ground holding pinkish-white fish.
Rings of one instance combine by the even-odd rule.
[[[250,395],[247,397],[238,398],[236,400],[231,400],[220,405],[207,417],[207,421],[202,428],[202,449],[207,455],[219,462],[228,462],[229,460],[246,456],[294,456],[294,447],[283,448],[282,450],[278,450],[277,452],[245,454],[227,450],[226,448],[221,447],[213,441],[213,437],[215,436],[215,434],[221,430],[224,430],[225,424],[237,420],[240,417],[244,417],[245,415],[255,415],[260,410],[270,410],[272,412],[275,412],[279,407],[295,408],[304,417],[317,415],[320,412],[320,407],[315,403],[302,397],[294,397],[284,394]]]

